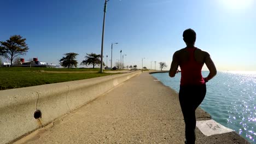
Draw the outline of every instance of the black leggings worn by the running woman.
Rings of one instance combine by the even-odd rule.
[[[185,136],[188,144],[195,143],[195,110],[202,103],[205,94],[206,85],[181,86],[179,89],[179,103],[185,121]]]

